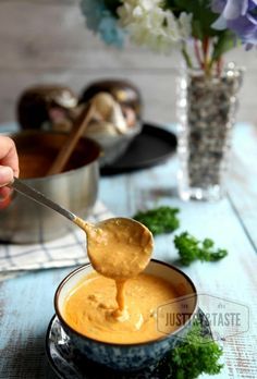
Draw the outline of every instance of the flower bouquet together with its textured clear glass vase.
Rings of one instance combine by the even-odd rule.
[[[122,47],[126,38],[158,53],[179,50],[179,193],[183,199],[223,196],[242,69],[227,51],[257,45],[257,0],[83,0],[89,29]]]

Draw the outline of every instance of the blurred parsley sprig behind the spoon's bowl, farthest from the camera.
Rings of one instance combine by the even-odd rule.
[[[152,234],[170,233],[180,227],[176,213],[180,210],[171,207],[159,207],[137,212],[133,219],[146,225]]]

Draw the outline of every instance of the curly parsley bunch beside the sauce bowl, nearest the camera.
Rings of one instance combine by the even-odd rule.
[[[216,375],[223,367],[219,363],[222,349],[209,335],[203,337],[199,321],[178,347],[171,350],[166,359],[158,365],[162,378],[195,379],[200,374]]]

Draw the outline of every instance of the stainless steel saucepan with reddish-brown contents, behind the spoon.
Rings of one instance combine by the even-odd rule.
[[[66,135],[25,131],[11,137],[17,147],[21,180],[86,219],[97,199],[100,147],[89,138],[81,138],[64,172],[46,176]],[[12,193],[9,204],[0,209],[2,242],[45,242],[64,235],[72,228],[75,225],[60,215],[38,207],[16,192]]]

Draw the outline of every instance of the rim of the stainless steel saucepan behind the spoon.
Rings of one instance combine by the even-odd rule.
[[[64,135],[64,136],[68,136],[69,133],[66,132],[58,132],[58,131],[44,131],[44,130],[33,130],[33,129],[27,129],[27,130],[19,130],[19,131],[15,131],[15,132],[11,132],[9,133],[9,136],[10,138],[13,138],[15,140],[15,138],[19,138],[20,136],[29,136],[29,135],[38,135],[38,134],[41,134],[41,135],[48,135],[48,134],[53,134],[53,135]],[[88,140],[91,145],[95,145],[95,148],[97,150],[97,155],[96,155],[96,158],[93,159],[90,162],[88,162],[87,164],[84,164],[84,166],[81,166],[78,168],[75,168],[75,169],[71,169],[69,171],[64,171],[64,172],[59,172],[57,174],[51,174],[51,175],[46,175],[46,176],[39,176],[39,178],[26,178],[26,179],[21,179],[23,182],[27,182],[29,183],[30,181],[33,182],[40,182],[42,180],[46,180],[46,179],[54,179],[54,178],[61,178],[62,175],[72,175],[74,172],[78,172],[78,171],[82,171],[82,170],[85,170],[85,168],[88,168],[95,163],[97,163],[99,166],[99,159],[101,158],[101,156],[103,155],[103,150],[102,150],[102,147],[100,146],[100,144],[90,138],[90,137],[86,137],[86,136],[82,136],[79,139],[86,139]]]

